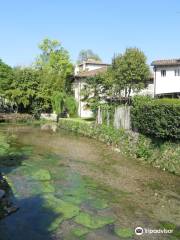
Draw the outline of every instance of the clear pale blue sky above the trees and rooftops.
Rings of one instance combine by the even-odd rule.
[[[29,65],[46,37],[60,40],[76,62],[92,49],[110,63],[127,47],[153,60],[180,57],[179,0],[0,0],[0,58]]]

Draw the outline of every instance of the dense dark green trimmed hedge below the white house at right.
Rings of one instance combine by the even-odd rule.
[[[180,139],[180,100],[135,97],[131,109],[133,129],[162,139]]]

